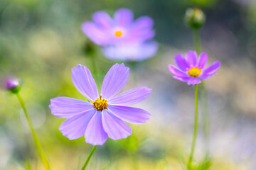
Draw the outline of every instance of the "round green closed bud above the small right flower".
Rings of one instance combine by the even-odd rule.
[[[188,8],[185,13],[185,21],[190,28],[199,29],[204,25],[206,16],[200,8]]]

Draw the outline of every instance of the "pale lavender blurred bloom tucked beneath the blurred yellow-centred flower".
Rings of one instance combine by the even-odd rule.
[[[144,42],[103,47],[102,53],[110,60],[142,61],[154,56],[157,49],[157,42]]]

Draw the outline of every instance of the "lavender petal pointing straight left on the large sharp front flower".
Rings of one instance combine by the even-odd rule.
[[[50,111],[58,118],[70,118],[93,108],[92,103],[75,98],[56,97],[50,99]]]

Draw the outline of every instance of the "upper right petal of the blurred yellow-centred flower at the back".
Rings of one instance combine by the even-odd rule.
[[[132,28],[129,32],[130,39],[135,38],[141,41],[149,40],[154,37],[153,20],[148,16],[142,16],[138,18],[132,24]]]

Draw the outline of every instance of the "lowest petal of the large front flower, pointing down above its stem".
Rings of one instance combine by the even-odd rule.
[[[91,145],[103,145],[107,140],[107,133],[102,126],[102,112],[93,115],[85,130],[85,142]]]

